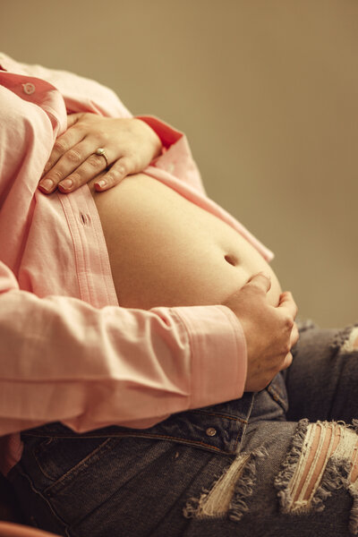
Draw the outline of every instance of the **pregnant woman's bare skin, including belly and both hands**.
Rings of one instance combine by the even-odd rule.
[[[292,361],[290,351],[298,339],[292,295],[281,293],[266,261],[218,218],[147,175],[131,175],[123,182],[160,152],[160,141],[148,125],[89,114],[69,117],[70,128],[55,144],[39,188],[68,193],[90,181],[119,303],[144,309],[226,305],[246,339],[245,390],[265,388]],[[98,147],[108,148],[109,172],[104,171],[105,158],[93,154]],[[66,180],[72,181],[69,188],[64,188]],[[103,190],[107,192],[98,195]],[[159,261],[158,252],[165,254]]]

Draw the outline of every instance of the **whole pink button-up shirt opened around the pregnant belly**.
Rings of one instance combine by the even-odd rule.
[[[115,93],[68,72],[0,55],[0,467],[21,456],[19,431],[145,428],[169,414],[243,395],[246,348],[225,306],[118,305],[96,205],[38,180],[68,112],[130,117]],[[271,252],[203,190],[182,133],[143,118],[166,152],[146,173]]]

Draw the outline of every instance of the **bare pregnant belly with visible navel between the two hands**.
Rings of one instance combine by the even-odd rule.
[[[90,191],[107,243],[120,305],[150,309],[223,303],[260,270],[281,288],[260,253],[219,218],[149,175]]]

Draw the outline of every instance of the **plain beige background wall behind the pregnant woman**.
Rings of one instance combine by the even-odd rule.
[[[301,316],[358,320],[356,0],[0,0],[0,49],[188,134]]]

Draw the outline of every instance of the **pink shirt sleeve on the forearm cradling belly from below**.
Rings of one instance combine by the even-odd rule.
[[[145,428],[243,394],[246,349],[224,306],[96,309],[21,291],[0,262],[0,436],[61,421]]]

